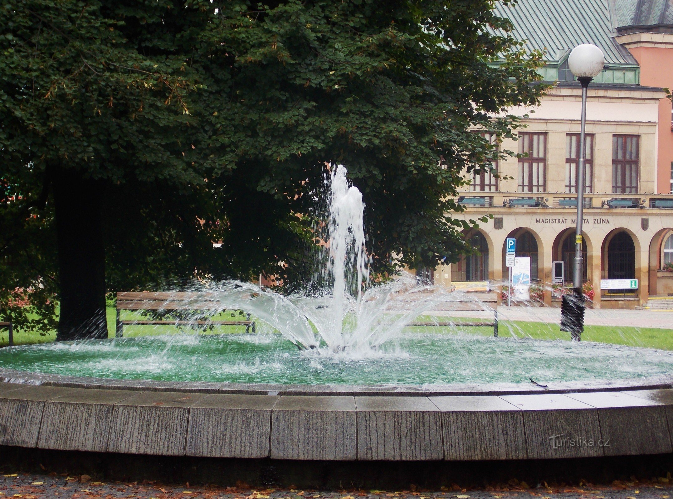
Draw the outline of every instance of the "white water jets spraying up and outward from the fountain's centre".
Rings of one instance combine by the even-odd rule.
[[[209,286],[209,294],[215,297],[213,307],[252,313],[301,349],[361,357],[394,338],[421,313],[446,301],[464,301],[464,293],[419,285],[409,276],[369,285],[362,194],[349,186],[346,174],[339,165],[328,178],[329,258],[322,269],[330,284],[326,291],[285,297],[248,282],[226,281]],[[407,306],[391,313],[390,305],[396,302]]]

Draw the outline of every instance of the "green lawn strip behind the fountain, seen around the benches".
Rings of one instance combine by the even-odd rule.
[[[129,315],[125,316],[129,317]],[[114,320],[115,309],[108,307],[108,336],[114,336]],[[237,317],[231,317],[228,314],[223,314],[218,317],[222,320],[238,320]],[[433,321],[434,319],[443,320],[444,317],[419,317],[421,321]],[[457,319],[458,321],[482,320],[483,319]],[[188,332],[189,330],[182,329]],[[242,333],[245,331],[245,326],[221,326],[215,328],[210,334],[221,333]],[[447,328],[430,328],[417,327],[409,328],[409,331],[415,332],[437,332],[450,333],[452,330]],[[464,328],[468,334],[478,334],[481,336],[490,336],[493,334],[493,328]],[[124,328],[124,336],[146,336],[167,334],[171,332],[178,332],[178,328],[174,326],[153,326],[153,325],[133,325]],[[17,331],[14,333],[14,342],[16,344],[32,344],[40,342],[53,341],[56,334],[49,332],[46,336],[40,336],[37,333],[24,333]],[[518,337],[518,338],[534,338],[536,340],[554,340],[554,339],[570,339],[570,335],[559,330],[558,324],[543,323],[543,322],[524,322],[524,321],[500,321],[499,322],[499,336],[502,338]],[[612,344],[622,344],[628,346],[647,346],[650,348],[662,348],[664,350],[673,350],[673,329],[658,329],[658,328],[630,328],[620,326],[607,325],[587,325],[584,328],[582,340]],[[7,344],[7,331],[0,332],[0,345]]]

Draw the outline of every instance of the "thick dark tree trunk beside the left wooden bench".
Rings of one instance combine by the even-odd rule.
[[[61,283],[57,340],[107,338],[103,186],[77,171],[52,171]]]

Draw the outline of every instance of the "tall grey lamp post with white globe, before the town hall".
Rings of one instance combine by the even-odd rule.
[[[596,45],[581,44],[568,56],[568,67],[582,85],[582,112],[579,128],[579,159],[577,161],[577,226],[575,228],[575,264],[573,265],[573,293],[563,295],[561,304],[561,331],[570,332],[575,341],[581,339],[584,330],[584,295],[582,293],[582,223],[584,210],[584,160],[585,129],[587,112],[587,87],[603,70],[605,56]]]

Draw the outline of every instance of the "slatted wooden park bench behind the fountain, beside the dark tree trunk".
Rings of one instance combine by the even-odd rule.
[[[122,310],[155,312],[207,312],[224,311],[217,301],[215,293],[150,293],[149,291],[117,293],[117,317],[114,336],[122,338],[125,325],[244,325],[246,333],[256,332],[256,323],[246,314],[243,321],[216,321],[212,319],[122,319]]]

